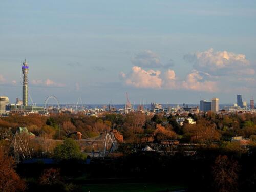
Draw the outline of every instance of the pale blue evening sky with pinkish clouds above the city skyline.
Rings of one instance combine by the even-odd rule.
[[[1,0],[0,95],[38,104],[256,97],[256,1]]]

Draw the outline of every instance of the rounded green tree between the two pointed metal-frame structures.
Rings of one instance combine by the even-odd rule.
[[[59,160],[82,160],[85,156],[82,154],[76,141],[68,138],[63,144],[54,149],[54,158]]]

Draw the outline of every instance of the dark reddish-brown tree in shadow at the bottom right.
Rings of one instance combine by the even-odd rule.
[[[219,155],[212,167],[216,191],[238,191],[238,162],[229,160],[226,155]]]

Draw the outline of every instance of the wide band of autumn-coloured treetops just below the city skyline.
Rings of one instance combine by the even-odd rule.
[[[197,120],[195,125],[185,122],[180,126],[176,118],[179,116],[145,115],[140,112],[126,115],[106,113],[100,117],[78,114],[52,114],[50,117],[31,114],[27,116],[10,115],[0,117],[0,127],[14,133],[17,127],[26,126],[36,136],[52,135],[52,139],[65,140],[68,137],[77,139],[73,132],[81,132],[82,138],[95,137],[110,129],[117,129],[125,142],[138,143],[145,137],[155,137],[157,124],[166,130],[175,132],[181,142],[210,145],[212,142],[230,141],[231,137],[256,135],[255,114],[188,114]],[[158,138],[169,138],[170,132],[158,133]],[[1,132],[0,132],[1,134]],[[164,135],[163,135],[164,134]],[[160,136],[161,135],[161,136]],[[3,135],[2,135],[3,136]],[[157,138],[157,137],[155,137]],[[172,137],[174,138],[174,137]]]

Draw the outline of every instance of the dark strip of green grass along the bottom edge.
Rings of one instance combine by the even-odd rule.
[[[186,187],[156,183],[97,184],[82,186],[82,191],[84,192],[166,192],[183,189],[186,189]]]

